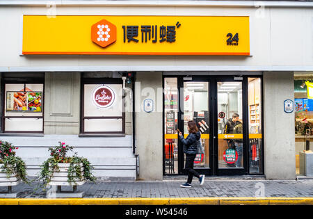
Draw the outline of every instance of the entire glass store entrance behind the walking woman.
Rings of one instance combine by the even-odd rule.
[[[164,77],[163,170],[183,175],[186,156],[177,129],[195,121],[204,154],[194,168],[205,175],[262,174],[262,79],[247,76]]]

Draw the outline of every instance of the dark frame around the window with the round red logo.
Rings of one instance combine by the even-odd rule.
[[[112,79],[112,78],[81,78],[81,134],[125,134],[125,92],[122,91],[122,116],[84,116],[84,95],[86,84],[121,84],[122,79]],[[122,131],[85,131],[85,120],[97,119],[97,120],[108,120],[108,119],[122,119]]]

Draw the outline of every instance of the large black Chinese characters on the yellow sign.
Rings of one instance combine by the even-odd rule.
[[[157,25],[142,25],[142,26],[122,26],[124,42],[139,42],[138,35],[139,29],[141,31],[141,42],[147,42],[152,40],[152,42],[175,42],[176,41],[176,29],[179,28],[181,24],[176,23],[176,26],[158,26]],[[159,34],[158,34],[159,33]],[[158,38],[159,35],[159,38]]]

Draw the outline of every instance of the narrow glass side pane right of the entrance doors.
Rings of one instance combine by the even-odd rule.
[[[260,78],[248,78],[249,165],[250,174],[263,172],[262,161],[262,83]]]

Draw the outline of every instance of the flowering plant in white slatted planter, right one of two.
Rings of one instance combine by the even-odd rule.
[[[90,162],[77,156],[76,152],[73,156],[67,156],[67,152],[72,151],[72,146],[61,142],[58,142],[58,146],[49,148],[50,157],[42,163],[39,174],[39,180],[43,182],[44,187],[58,186],[57,193],[61,193],[61,186],[73,186],[76,192],[77,186],[86,181],[96,181]]]

